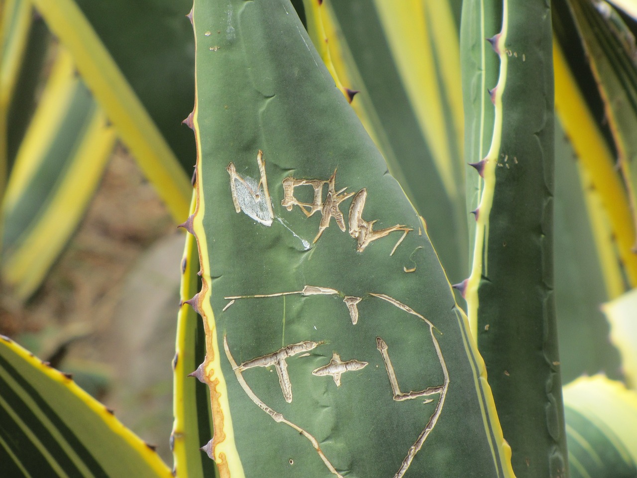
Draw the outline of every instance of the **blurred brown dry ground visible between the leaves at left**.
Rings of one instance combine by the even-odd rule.
[[[118,147],[87,215],[39,291],[0,295],[0,333],[75,372],[169,464],[183,235]],[[57,355],[56,355],[57,352]]]

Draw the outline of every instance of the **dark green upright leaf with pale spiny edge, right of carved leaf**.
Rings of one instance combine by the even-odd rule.
[[[487,18],[498,17],[497,8],[502,9],[501,29],[486,29]],[[512,447],[513,470],[519,477],[564,476],[568,463],[553,294],[550,10],[544,2],[472,3],[462,22],[467,150],[476,155],[470,162],[480,173],[480,202],[474,211],[472,271],[459,287]],[[494,51],[485,50],[490,49],[485,38]],[[500,62],[499,78],[486,85],[488,92],[483,83],[491,71],[487,54]],[[487,124],[490,139],[484,136]]]

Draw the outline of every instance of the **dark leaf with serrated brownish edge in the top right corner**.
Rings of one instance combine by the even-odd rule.
[[[634,36],[617,12],[606,3],[573,0],[569,4],[590,69],[604,101],[606,120],[617,148],[617,164],[629,191],[635,220],[637,48]],[[633,238],[634,225],[633,223]]]

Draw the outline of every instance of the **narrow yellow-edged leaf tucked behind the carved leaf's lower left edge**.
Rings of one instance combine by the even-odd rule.
[[[194,198],[191,212],[194,212]],[[194,236],[187,235],[182,259],[182,285],[180,296],[182,301],[189,300],[199,291],[201,286],[199,272],[199,256]],[[175,394],[173,396],[173,413],[175,423],[171,435],[171,447],[175,459],[174,471],[177,477],[211,478],[217,476],[214,461],[210,460],[199,448],[204,445],[213,433],[210,416],[210,393],[195,376],[197,366],[206,355],[205,334],[199,316],[182,303],[177,317],[175,361]]]

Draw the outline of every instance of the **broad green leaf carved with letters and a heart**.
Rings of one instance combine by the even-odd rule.
[[[291,4],[197,0],[192,18],[184,227],[202,265],[197,375],[220,476],[512,476],[419,216]]]

